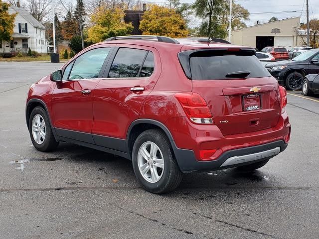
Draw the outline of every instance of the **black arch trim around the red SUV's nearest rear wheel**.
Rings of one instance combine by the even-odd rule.
[[[166,134],[172,146],[172,149],[175,152],[175,149],[177,147],[175,145],[173,137],[169,129],[163,123],[155,119],[137,119],[131,123],[128,129],[127,138],[126,138],[126,147],[131,160],[132,160],[133,145],[136,138],[140,135],[140,133],[151,128],[160,128]]]

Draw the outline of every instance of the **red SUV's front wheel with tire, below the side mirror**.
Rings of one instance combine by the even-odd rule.
[[[29,133],[33,146],[42,152],[56,149],[59,144],[52,133],[50,120],[42,107],[35,107],[29,119]]]

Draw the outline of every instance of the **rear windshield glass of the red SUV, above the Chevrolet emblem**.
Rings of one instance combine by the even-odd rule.
[[[253,53],[245,51],[200,51],[191,54],[189,58],[192,80],[224,80],[229,73],[250,71],[245,78],[271,76]],[[238,77],[237,77],[238,78]]]

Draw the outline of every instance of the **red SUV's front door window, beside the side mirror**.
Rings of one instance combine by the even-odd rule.
[[[96,48],[76,58],[68,79],[98,78],[110,47]]]

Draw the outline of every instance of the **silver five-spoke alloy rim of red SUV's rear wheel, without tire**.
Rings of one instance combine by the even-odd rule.
[[[138,166],[143,178],[156,183],[164,172],[164,158],[159,146],[151,141],[141,145],[138,152]]]

